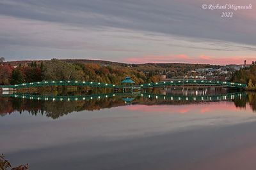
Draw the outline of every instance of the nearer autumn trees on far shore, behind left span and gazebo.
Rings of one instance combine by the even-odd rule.
[[[135,83],[160,81],[157,72],[150,71],[146,74],[134,67],[112,66],[95,63],[68,63],[63,60],[52,59],[44,62],[31,62],[29,64],[0,65],[0,84],[13,85],[34,81],[51,80],[79,80],[97,81],[102,83],[118,84],[125,76],[131,76]]]

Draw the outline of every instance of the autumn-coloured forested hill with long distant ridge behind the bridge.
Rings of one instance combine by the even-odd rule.
[[[125,64],[104,60],[22,60],[2,62],[0,85],[42,80],[80,80],[120,83],[131,76],[136,83],[157,82],[161,75],[182,77],[198,68],[220,67],[208,64]]]

